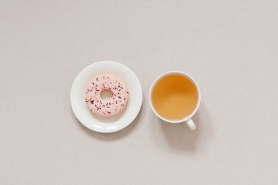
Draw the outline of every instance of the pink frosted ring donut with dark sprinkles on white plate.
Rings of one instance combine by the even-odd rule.
[[[101,91],[110,90],[112,98],[101,99]],[[99,116],[112,116],[120,112],[127,103],[129,91],[124,81],[111,74],[102,73],[90,80],[85,94],[88,108]]]

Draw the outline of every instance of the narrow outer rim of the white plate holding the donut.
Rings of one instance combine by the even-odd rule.
[[[139,83],[139,86],[140,86],[140,105],[138,107],[138,110],[136,112],[136,116],[134,116],[131,121],[129,121],[129,123],[126,123],[125,125],[123,125],[122,127],[117,127],[116,129],[114,130],[101,130],[101,129],[97,129],[97,127],[88,127],[86,124],[82,123],[82,121],[79,119],[79,116],[77,116],[76,112],[74,111],[74,106],[72,105],[73,103],[73,94],[72,94],[72,91],[73,91],[73,88],[74,88],[74,84],[76,83],[76,79],[79,78],[79,76],[81,75],[81,73],[83,73],[83,71],[85,71],[85,69],[88,69],[89,67],[92,67],[96,64],[99,64],[99,63],[105,63],[105,62],[108,62],[108,63],[114,63],[114,64],[117,64],[117,65],[120,65],[121,67],[124,67],[126,69],[128,69],[129,71],[131,71],[131,73],[134,74],[134,76],[136,77],[136,80],[138,81]],[[71,107],[72,107],[72,112],[74,113],[74,116],[77,118],[77,120],[85,127],[87,127],[88,129],[90,130],[93,130],[95,132],[99,132],[99,133],[113,133],[113,132],[117,132],[117,131],[120,131],[120,130],[123,130],[125,127],[127,127],[128,125],[130,125],[131,123],[133,123],[133,121],[136,119],[136,117],[138,116],[138,114],[140,113],[140,110],[142,108],[142,85],[141,85],[141,82],[138,78],[138,76],[136,75],[136,73],[134,73],[129,67],[127,67],[126,65],[120,63],[120,62],[115,62],[115,61],[112,61],[112,60],[102,60],[102,61],[98,61],[98,62],[93,62],[92,64],[89,64],[87,67],[84,67],[77,75],[76,77],[74,78],[73,82],[72,82],[72,87],[70,89],[70,104],[71,104]]]

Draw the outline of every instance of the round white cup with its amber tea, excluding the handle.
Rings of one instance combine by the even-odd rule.
[[[152,110],[156,116],[170,123],[191,120],[199,108],[200,98],[195,80],[179,71],[163,73],[149,91]]]

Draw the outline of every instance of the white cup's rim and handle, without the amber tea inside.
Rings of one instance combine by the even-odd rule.
[[[152,90],[154,89],[154,86],[156,85],[156,82],[161,80],[161,78],[163,78],[164,76],[168,76],[168,75],[171,75],[171,74],[179,74],[181,76],[185,76],[186,78],[190,79],[193,82],[193,84],[195,85],[195,87],[197,89],[197,93],[198,93],[198,102],[197,102],[197,105],[195,107],[195,110],[189,116],[186,116],[186,118],[183,118],[181,120],[168,120],[166,118],[163,118],[161,115],[159,115],[156,112],[156,110],[154,109],[154,106],[152,105]],[[197,85],[197,82],[191,76],[189,76],[188,74],[180,72],[180,71],[169,71],[169,72],[163,73],[161,76],[158,76],[158,78],[156,78],[156,80],[154,80],[154,82],[152,83],[151,89],[149,89],[149,105],[151,105],[152,111],[154,112],[154,114],[156,114],[156,116],[158,116],[158,118],[161,118],[163,121],[167,121],[169,123],[186,122],[191,130],[196,129],[196,125],[191,118],[197,112],[197,109],[199,109],[200,102],[201,102],[201,94],[200,94],[199,86]]]

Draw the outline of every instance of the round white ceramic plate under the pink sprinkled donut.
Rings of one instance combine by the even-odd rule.
[[[124,80],[129,89],[129,101],[121,112],[114,116],[102,117],[90,112],[85,104],[85,91],[92,78],[99,73],[113,73]],[[131,69],[113,61],[101,61],[85,67],[76,76],[70,91],[72,110],[78,120],[90,130],[110,133],[122,130],[138,115],[142,105],[142,87]]]

